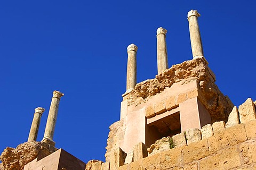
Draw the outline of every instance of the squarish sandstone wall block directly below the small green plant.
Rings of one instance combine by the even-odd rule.
[[[160,153],[161,169],[170,169],[182,165],[180,148],[173,148]]]

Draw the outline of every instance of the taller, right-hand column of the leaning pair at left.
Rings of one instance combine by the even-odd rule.
[[[57,114],[59,109],[60,98],[63,96],[62,92],[53,91],[52,103],[50,106],[50,111],[47,118],[47,123],[44,131],[44,138],[42,142],[49,143],[52,146],[55,146],[53,141],[53,134],[55,129],[55,124],[57,120]]]

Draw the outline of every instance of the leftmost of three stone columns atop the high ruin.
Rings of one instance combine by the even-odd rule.
[[[138,47],[135,44],[131,44],[127,47],[127,77],[126,77],[126,92],[134,89],[137,83],[137,55]]]

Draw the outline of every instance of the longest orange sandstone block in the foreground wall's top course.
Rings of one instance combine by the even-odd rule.
[[[247,140],[244,124],[231,126],[210,138],[207,138],[209,151],[211,154],[216,154],[217,151],[234,146]]]

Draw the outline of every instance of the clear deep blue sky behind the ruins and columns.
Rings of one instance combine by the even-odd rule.
[[[54,141],[87,163],[105,160],[119,120],[126,47],[138,46],[138,82],[154,78],[156,30],[168,30],[169,66],[191,60],[187,12],[198,10],[204,55],[238,106],[256,99],[256,1],[1,1],[0,150],[27,141],[34,108],[61,98]]]

